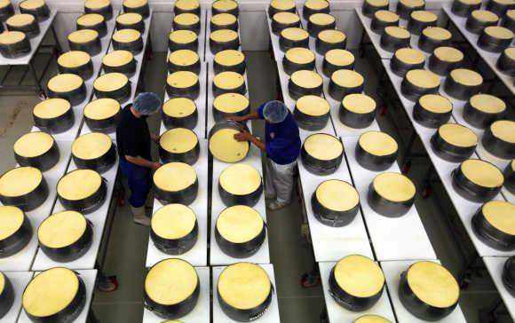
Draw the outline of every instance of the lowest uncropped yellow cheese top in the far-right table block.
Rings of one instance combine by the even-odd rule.
[[[464,176],[476,185],[483,187],[503,186],[503,173],[489,162],[468,159],[461,163],[460,169]]]

